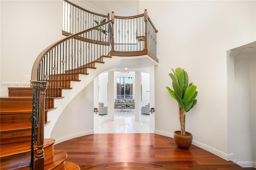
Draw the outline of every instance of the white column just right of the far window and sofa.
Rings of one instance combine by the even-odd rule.
[[[134,101],[135,101],[135,120],[141,120],[141,72],[135,72],[135,92],[134,92]]]

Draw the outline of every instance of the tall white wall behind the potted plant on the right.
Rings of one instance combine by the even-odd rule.
[[[171,68],[186,68],[198,104],[186,116],[194,144],[228,159],[226,51],[255,41],[255,1],[140,1],[158,29],[155,132],[180,128],[178,107],[165,86]]]

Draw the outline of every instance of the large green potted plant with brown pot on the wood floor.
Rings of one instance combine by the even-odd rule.
[[[180,67],[169,76],[172,79],[173,90],[166,86],[170,96],[178,102],[178,113],[180,118],[180,131],[174,131],[174,141],[178,147],[187,149],[192,144],[192,134],[185,131],[186,113],[196,105],[196,86],[190,83],[188,85],[188,73]]]

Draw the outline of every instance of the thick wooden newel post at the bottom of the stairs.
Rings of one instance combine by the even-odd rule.
[[[38,110],[38,135],[37,135],[37,150],[35,158],[35,169],[44,170],[44,101],[45,90],[48,86],[48,82],[44,81],[31,81],[33,87],[39,90],[39,110]]]

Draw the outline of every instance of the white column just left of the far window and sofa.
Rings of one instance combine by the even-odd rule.
[[[114,71],[108,72],[108,120],[114,120]]]

